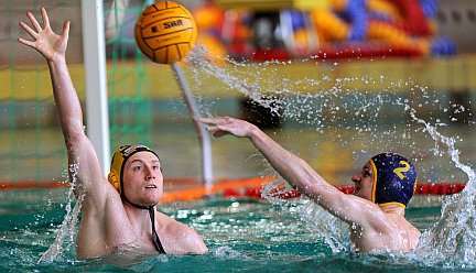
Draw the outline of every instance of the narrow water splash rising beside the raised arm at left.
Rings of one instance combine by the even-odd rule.
[[[69,165],[71,173],[71,187],[67,193],[67,204],[65,207],[66,215],[64,216],[63,222],[56,230],[56,238],[53,244],[47,251],[45,251],[40,258],[39,262],[53,262],[61,260],[65,256],[65,253],[71,251],[75,245],[76,238],[76,226],[79,218],[79,212],[82,209],[82,204],[84,200],[84,194],[78,195],[76,203],[74,190],[77,186],[77,173],[79,170],[79,163],[73,163]]]

